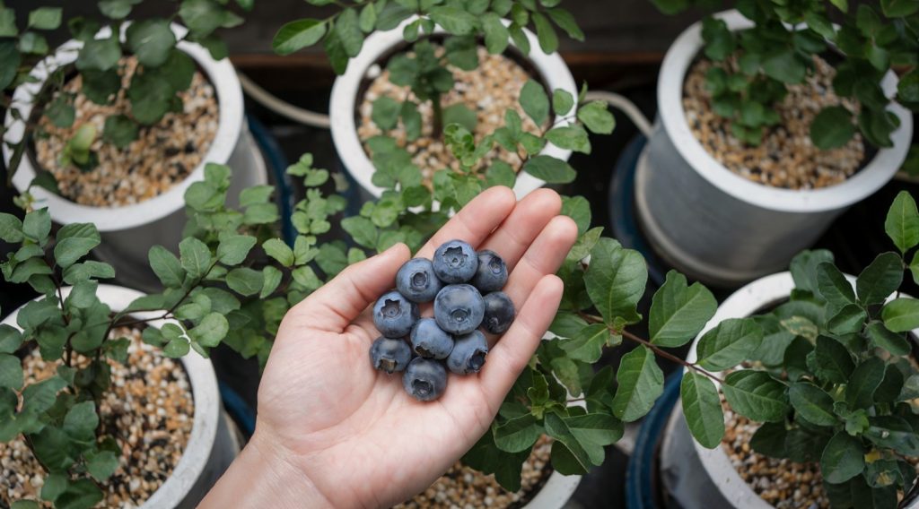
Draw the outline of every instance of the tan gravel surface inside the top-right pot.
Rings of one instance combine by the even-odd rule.
[[[836,71],[814,57],[813,72],[804,83],[788,86],[789,93],[776,111],[781,122],[766,127],[757,147],[744,145],[731,132],[731,124],[715,115],[705,73],[716,65],[700,59],[686,74],[683,109],[690,130],[702,146],[725,167],[755,183],[786,189],[816,189],[842,183],[857,172],[865,159],[865,143],[856,132],[843,147],[821,150],[811,143],[811,122],[825,106],[844,105],[856,115],[856,101],[833,92]],[[736,70],[733,61],[718,63]]]

